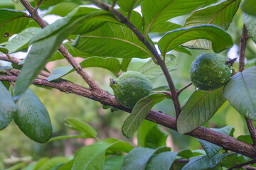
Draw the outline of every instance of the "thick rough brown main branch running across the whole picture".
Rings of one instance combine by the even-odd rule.
[[[0,76],[0,81],[16,81],[16,79],[17,77],[14,76]],[[63,91],[66,94],[76,94],[78,96],[84,96],[94,101],[99,101],[104,105],[113,106],[114,108],[119,108],[120,110],[129,113],[132,111],[131,109],[127,109],[121,106],[116,101],[114,96],[109,94],[107,91],[103,91],[102,94],[98,94],[96,91],[90,91],[90,89],[79,86],[77,84],[73,84],[72,82],[63,79],[54,82],[49,82],[46,79],[35,79],[33,81],[33,84],[52,87],[54,89]],[[146,119],[154,123],[158,123],[159,125],[163,125],[166,128],[177,130],[176,118],[173,118],[170,115],[165,115],[164,113],[161,113],[159,111],[151,110],[149,115],[147,115]],[[197,128],[196,130],[193,130],[186,135],[190,135],[201,140],[206,140],[215,145],[223,147],[224,149],[232,150],[234,152],[256,160],[256,149],[252,145],[237,140],[234,137],[230,137],[228,135],[224,135],[220,132],[215,132],[204,127]]]

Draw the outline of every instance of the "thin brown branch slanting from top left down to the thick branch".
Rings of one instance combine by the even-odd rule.
[[[21,0],[21,4],[31,13],[32,18],[41,26],[41,28],[45,28],[47,26],[46,22],[38,15],[38,12],[29,4],[27,0]],[[85,82],[90,86],[90,89],[93,91],[97,91],[98,93],[102,93],[102,89],[98,86],[95,81],[85,72],[84,69],[76,62],[72,55],[68,52],[68,50],[64,47],[64,45],[60,45],[58,50],[65,57],[66,60],[74,67],[75,71],[85,80]]]

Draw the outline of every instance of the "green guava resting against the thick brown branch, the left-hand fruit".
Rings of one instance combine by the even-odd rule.
[[[118,79],[110,79],[110,86],[117,101],[126,108],[133,108],[137,101],[152,93],[151,82],[140,72],[125,72]]]

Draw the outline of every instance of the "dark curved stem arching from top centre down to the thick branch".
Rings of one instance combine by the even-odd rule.
[[[146,45],[146,47],[149,49],[152,55],[154,55],[157,63],[159,64],[162,71],[164,72],[164,76],[166,77],[166,80],[169,84],[169,88],[171,90],[171,96],[174,101],[176,116],[178,117],[178,114],[181,112],[181,104],[179,103],[179,100],[178,100],[178,94],[174,86],[174,81],[172,81],[171,74],[168,68],[166,67],[166,64],[164,63],[164,60],[161,59],[156,49],[151,45],[149,40],[145,39],[144,35],[136,28],[136,26],[134,26],[133,23],[128,21],[127,18],[120,11],[118,11],[117,9],[112,9],[109,4],[105,4],[100,0],[90,0],[90,1],[92,1],[93,4],[104,9],[105,11],[110,11],[111,13],[114,14],[114,16],[117,16],[117,20],[119,20],[120,23],[124,23],[128,28],[130,28],[134,32],[134,34],[137,35],[137,38],[139,38],[139,40],[143,42],[144,45]]]

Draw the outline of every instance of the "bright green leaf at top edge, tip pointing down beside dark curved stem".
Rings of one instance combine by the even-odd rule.
[[[213,0],[144,0],[142,3],[142,14],[145,20],[144,35],[151,30],[164,24],[171,18],[190,13],[206,2]]]

